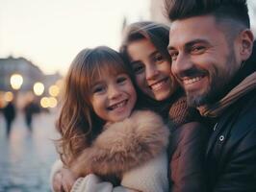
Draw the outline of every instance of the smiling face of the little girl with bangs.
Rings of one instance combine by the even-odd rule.
[[[103,74],[92,84],[90,102],[94,112],[107,122],[129,117],[137,100],[137,93],[125,73]]]

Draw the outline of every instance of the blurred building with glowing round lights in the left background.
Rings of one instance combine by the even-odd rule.
[[[55,108],[62,79],[59,73],[45,75],[24,58],[0,59],[0,108],[13,100],[17,108],[24,108],[31,101],[39,103],[41,108]]]

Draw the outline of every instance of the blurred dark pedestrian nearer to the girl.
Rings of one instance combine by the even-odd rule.
[[[30,132],[32,132],[32,121],[34,114],[40,112],[40,108],[38,104],[34,101],[30,101],[26,104],[24,107],[24,113],[25,113],[25,122],[27,125],[27,128]]]

